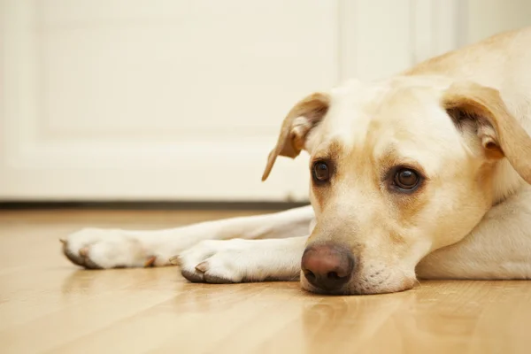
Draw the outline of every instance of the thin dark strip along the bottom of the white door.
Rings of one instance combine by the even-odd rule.
[[[0,202],[0,210],[285,210],[307,203],[292,202]]]

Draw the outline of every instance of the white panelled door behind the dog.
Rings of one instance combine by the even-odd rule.
[[[305,156],[260,181],[281,119],[412,65],[415,6],[0,1],[0,199],[306,199]]]

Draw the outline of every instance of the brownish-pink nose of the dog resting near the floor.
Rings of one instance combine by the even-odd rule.
[[[314,287],[337,290],[349,281],[354,263],[350,250],[333,244],[318,244],[304,250],[301,268]]]

